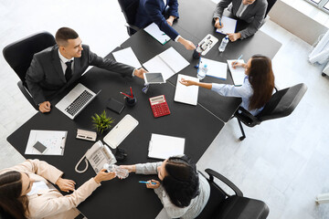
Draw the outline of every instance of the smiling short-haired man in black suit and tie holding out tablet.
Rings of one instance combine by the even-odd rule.
[[[41,112],[50,111],[49,100],[79,79],[89,66],[104,68],[122,76],[143,78],[143,68],[135,69],[109,58],[98,57],[73,29],[59,28],[57,45],[34,55],[27,69],[27,88]]]

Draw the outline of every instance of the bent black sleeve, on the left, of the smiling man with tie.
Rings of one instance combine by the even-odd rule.
[[[46,101],[42,88],[38,85],[45,77],[37,55],[33,56],[30,67],[27,69],[27,88],[36,104]]]

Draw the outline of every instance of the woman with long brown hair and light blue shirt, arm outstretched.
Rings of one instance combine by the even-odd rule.
[[[234,64],[234,63],[232,63]],[[247,64],[237,62],[233,68],[245,68],[246,78],[242,86],[201,83],[182,78],[180,83],[186,86],[196,85],[211,89],[222,96],[242,99],[241,107],[256,116],[271,99],[274,92],[274,75],[271,59],[261,55],[252,56]]]

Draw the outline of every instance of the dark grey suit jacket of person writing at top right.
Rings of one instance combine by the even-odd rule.
[[[232,3],[232,5],[228,7],[228,11],[233,13],[234,16],[237,16],[241,2],[242,0],[221,0],[215,9],[214,18],[223,16],[224,9],[227,8],[230,3]],[[242,16],[239,17],[241,20],[245,20],[249,23],[247,28],[239,31],[241,39],[254,35],[260,29],[267,5],[268,3],[266,0],[256,0],[253,4],[248,5],[246,10],[242,13]]]

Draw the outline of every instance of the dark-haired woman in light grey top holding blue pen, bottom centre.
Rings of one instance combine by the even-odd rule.
[[[137,174],[158,174],[162,183],[151,180],[146,187],[154,189],[171,218],[196,218],[209,199],[209,183],[196,172],[196,165],[186,156],[121,167]]]

